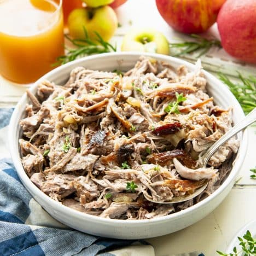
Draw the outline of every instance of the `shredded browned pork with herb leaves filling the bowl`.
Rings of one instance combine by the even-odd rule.
[[[123,76],[77,67],[65,85],[39,84],[20,121],[21,161],[46,195],[103,218],[150,219],[200,201],[222,183],[235,138],[199,168],[201,154],[231,128],[201,72],[141,57]],[[169,201],[193,193],[194,200]],[[147,197],[148,198],[148,197]]]

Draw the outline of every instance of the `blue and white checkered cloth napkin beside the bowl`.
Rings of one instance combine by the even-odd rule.
[[[0,159],[9,155],[12,112],[0,109]],[[0,160],[0,255],[154,255],[143,241],[127,247],[134,242],[91,236],[57,222],[24,188],[11,160]]]

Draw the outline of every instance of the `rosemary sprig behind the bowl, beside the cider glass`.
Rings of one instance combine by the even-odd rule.
[[[91,54],[110,53],[111,51],[117,51],[117,47],[103,40],[103,38],[94,31],[96,34],[96,42],[89,38],[87,31],[84,28],[84,38],[72,39],[65,35],[65,37],[75,46],[75,49],[66,49],[67,54],[57,57],[57,63],[55,65],[63,65],[69,61],[78,59]]]

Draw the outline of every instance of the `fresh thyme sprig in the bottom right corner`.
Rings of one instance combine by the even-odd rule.
[[[246,231],[246,234],[243,235],[243,238],[237,237],[240,241],[239,245],[241,246],[241,250],[237,251],[237,248],[233,248],[232,253],[224,253],[217,251],[219,255],[223,256],[238,256],[238,255],[244,255],[244,256],[253,256],[256,255],[256,239],[252,237],[252,234],[249,230]]]

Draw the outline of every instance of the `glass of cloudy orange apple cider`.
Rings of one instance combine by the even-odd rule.
[[[0,74],[28,84],[64,52],[62,0],[0,0]]]

